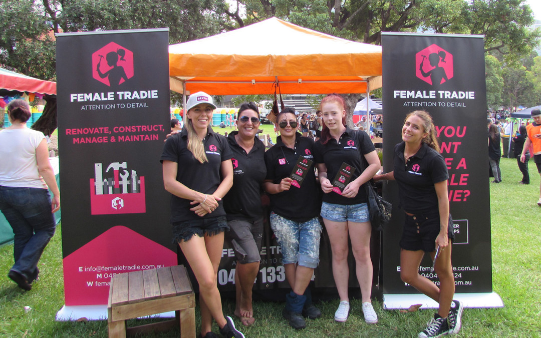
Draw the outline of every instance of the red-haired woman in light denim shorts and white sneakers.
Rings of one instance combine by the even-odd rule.
[[[349,314],[348,237],[351,241],[355,270],[362,294],[362,313],[370,324],[378,322],[372,307],[372,260],[370,258],[370,236],[372,226],[366,204],[365,184],[379,170],[381,164],[370,137],[363,131],[346,127],[344,100],[337,94],[321,100],[324,127],[321,138],[314,147],[321,189],[325,193],[321,206],[321,217],[331,241],[334,283],[337,285],[340,304],[334,320],[345,322]],[[362,156],[360,155],[362,154]],[[364,164],[363,162],[367,162]],[[353,173],[350,181],[344,180]],[[365,168],[361,171],[361,168]],[[344,175],[339,174],[341,170]],[[339,175],[337,175],[339,174]],[[338,177],[342,186],[333,184]],[[340,183],[338,183],[340,184]]]

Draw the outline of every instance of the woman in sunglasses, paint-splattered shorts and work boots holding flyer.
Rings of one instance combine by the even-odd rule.
[[[286,295],[282,315],[293,328],[302,329],[306,327],[304,317],[321,316],[312,304],[308,288],[319,263],[321,204],[313,164],[309,164],[300,185],[290,176],[299,160],[311,163],[314,141],[296,132],[298,123],[292,108],[283,109],[276,116],[276,123],[280,136],[265,153],[267,177],[263,187],[271,195],[271,228],[282,250],[286,279],[292,288]]]

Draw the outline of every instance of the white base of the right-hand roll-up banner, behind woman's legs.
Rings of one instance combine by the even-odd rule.
[[[502,298],[495,292],[454,294],[466,308],[503,308]],[[436,309],[438,303],[423,294],[383,294],[386,310],[408,309],[413,304],[423,304],[421,309]]]

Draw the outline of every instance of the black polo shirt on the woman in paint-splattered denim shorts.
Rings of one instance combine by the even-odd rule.
[[[294,149],[286,147],[282,142],[282,137],[278,136],[276,144],[265,153],[266,180],[272,180],[273,183],[279,184],[282,178],[291,175],[299,156],[313,161],[313,150],[314,141],[312,138],[303,137],[299,132],[295,134]],[[312,163],[312,169],[314,169],[313,167]],[[300,188],[292,186],[287,191],[270,194],[271,210],[288,220],[306,222],[318,216],[321,211],[319,190],[321,189],[315,181],[314,170],[308,170]]]

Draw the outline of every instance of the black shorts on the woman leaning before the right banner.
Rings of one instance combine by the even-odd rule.
[[[431,253],[436,250],[436,237],[440,231],[439,211],[428,211],[413,216],[406,214],[400,248],[411,251],[423,250]],[[453,218],[449,214],[447,237],[454,240]]]

